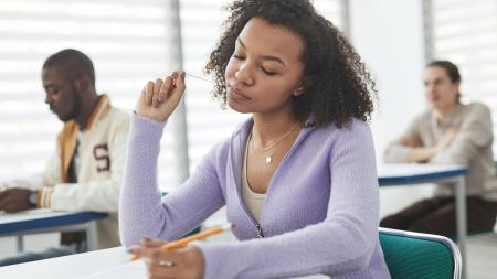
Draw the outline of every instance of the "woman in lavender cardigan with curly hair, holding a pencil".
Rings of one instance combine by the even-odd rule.
[[[172,240],[226,206],[236,243],[162,251],[141,240],[151,278],[389,278],[368,120],[373,82],[309,1],[235,1],[207,69],[215,96],[251,114],[163,198],[159,141],[184,73],[149,82],[131,120],[120,201],[127,247]]]

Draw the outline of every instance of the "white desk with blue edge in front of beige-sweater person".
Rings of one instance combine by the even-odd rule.
[[[467,167],[458,164],[382,164],[378,167],[380,187],[435,182],[451,182],[455,186],[457,246],[463,258],[463,278],[466,272],[466,187]]]

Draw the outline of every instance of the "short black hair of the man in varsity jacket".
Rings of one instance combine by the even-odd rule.
[[[62,68],[70,78],[86,75],[93,87],[95,87],[95,69],[92,60],[81,51],[65,49],[50,55],[45,63],[43,63],[43,69],[53,67]]]

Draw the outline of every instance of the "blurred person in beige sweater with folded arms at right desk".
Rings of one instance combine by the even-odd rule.
[[[483,104],[459,101],[461,75],[448,61],[426,67],[424,87],[430,108],[385,151],[387,162],[467,164],[468,232],[491,230],[497,215],[497,178],[491,146],[490,110]],[[455,235],[454,187],[440,185],[423,200],[381,221],[382,227]]]

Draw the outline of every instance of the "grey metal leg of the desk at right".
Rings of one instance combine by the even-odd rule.
[[[456,216],[457,216],[457,246],[459,247],[461,257],[463,258],[463,278],[467,278],[467,258],[466,258],[466,235],[467,235],[467,217],[466,217],[466,187],[464,176],[457,181],[456,185]]]

